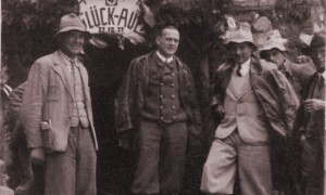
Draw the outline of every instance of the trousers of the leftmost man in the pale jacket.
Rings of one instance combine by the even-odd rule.
[[[96,195],[96,162],[90,129],[71,128],[66,151],[46,156],[45,195]]]

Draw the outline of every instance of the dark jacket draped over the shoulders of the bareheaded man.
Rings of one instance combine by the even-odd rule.
[[[137,130],[140,112],[143,109],[145,93],[149,87],[149,56],[153,52],[135,58],[126,73],[126,78],[122,84],[115,99],[115,123],[117,133],[129,132],[128,130]],[[179,69],[179,104],[187,114],[187,123],[189,131],[190,144],[198,142],[201,134],[201,116],[197,103],[197,94],[189,68],[175,56],[176,67]],[[161,84],[161,83],[160,83]],[[164,83],[163,83],[164,84]],[[172,84],[172,83],[171,83]],[[176,83],[174,83],[176,84]],[[160,94],[161,99],[175,99],[175,94]],[[164,109],[164,105],[163,109]],[[171,105],[172,106],[172,105]],[[176,108],[176,105],[175,105]],[[163,117],[164,119],[164,117]],[[130,140],[129,140],[130,141]],[[192,142],[193,141],[193,142]],[[120,140],[120,144],[122,140]]]

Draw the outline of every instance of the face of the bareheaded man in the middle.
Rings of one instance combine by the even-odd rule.
[[[163,29],[162,34],[156,37],[159,52],[165,57],[174,55],[179,46],[179,38],[178,30],[171,28]]]

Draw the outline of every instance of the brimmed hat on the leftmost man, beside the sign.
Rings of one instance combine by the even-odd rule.
[[[79,17],[74,13],[61,17],[59,30],[54,35],[54,37],[57,37],[59,34],[66,32],[70,30],[83,31],[87,39],[91,38],[91,34],[86,30],[85,25],[82,23]]]

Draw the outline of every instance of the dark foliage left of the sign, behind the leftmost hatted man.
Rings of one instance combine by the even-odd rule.
[[[37,57],[53,51],[49,42],[60,17],[77,10],[77,0],[2,1],[2,66],[9,67],[11,86],[24,81]]]

